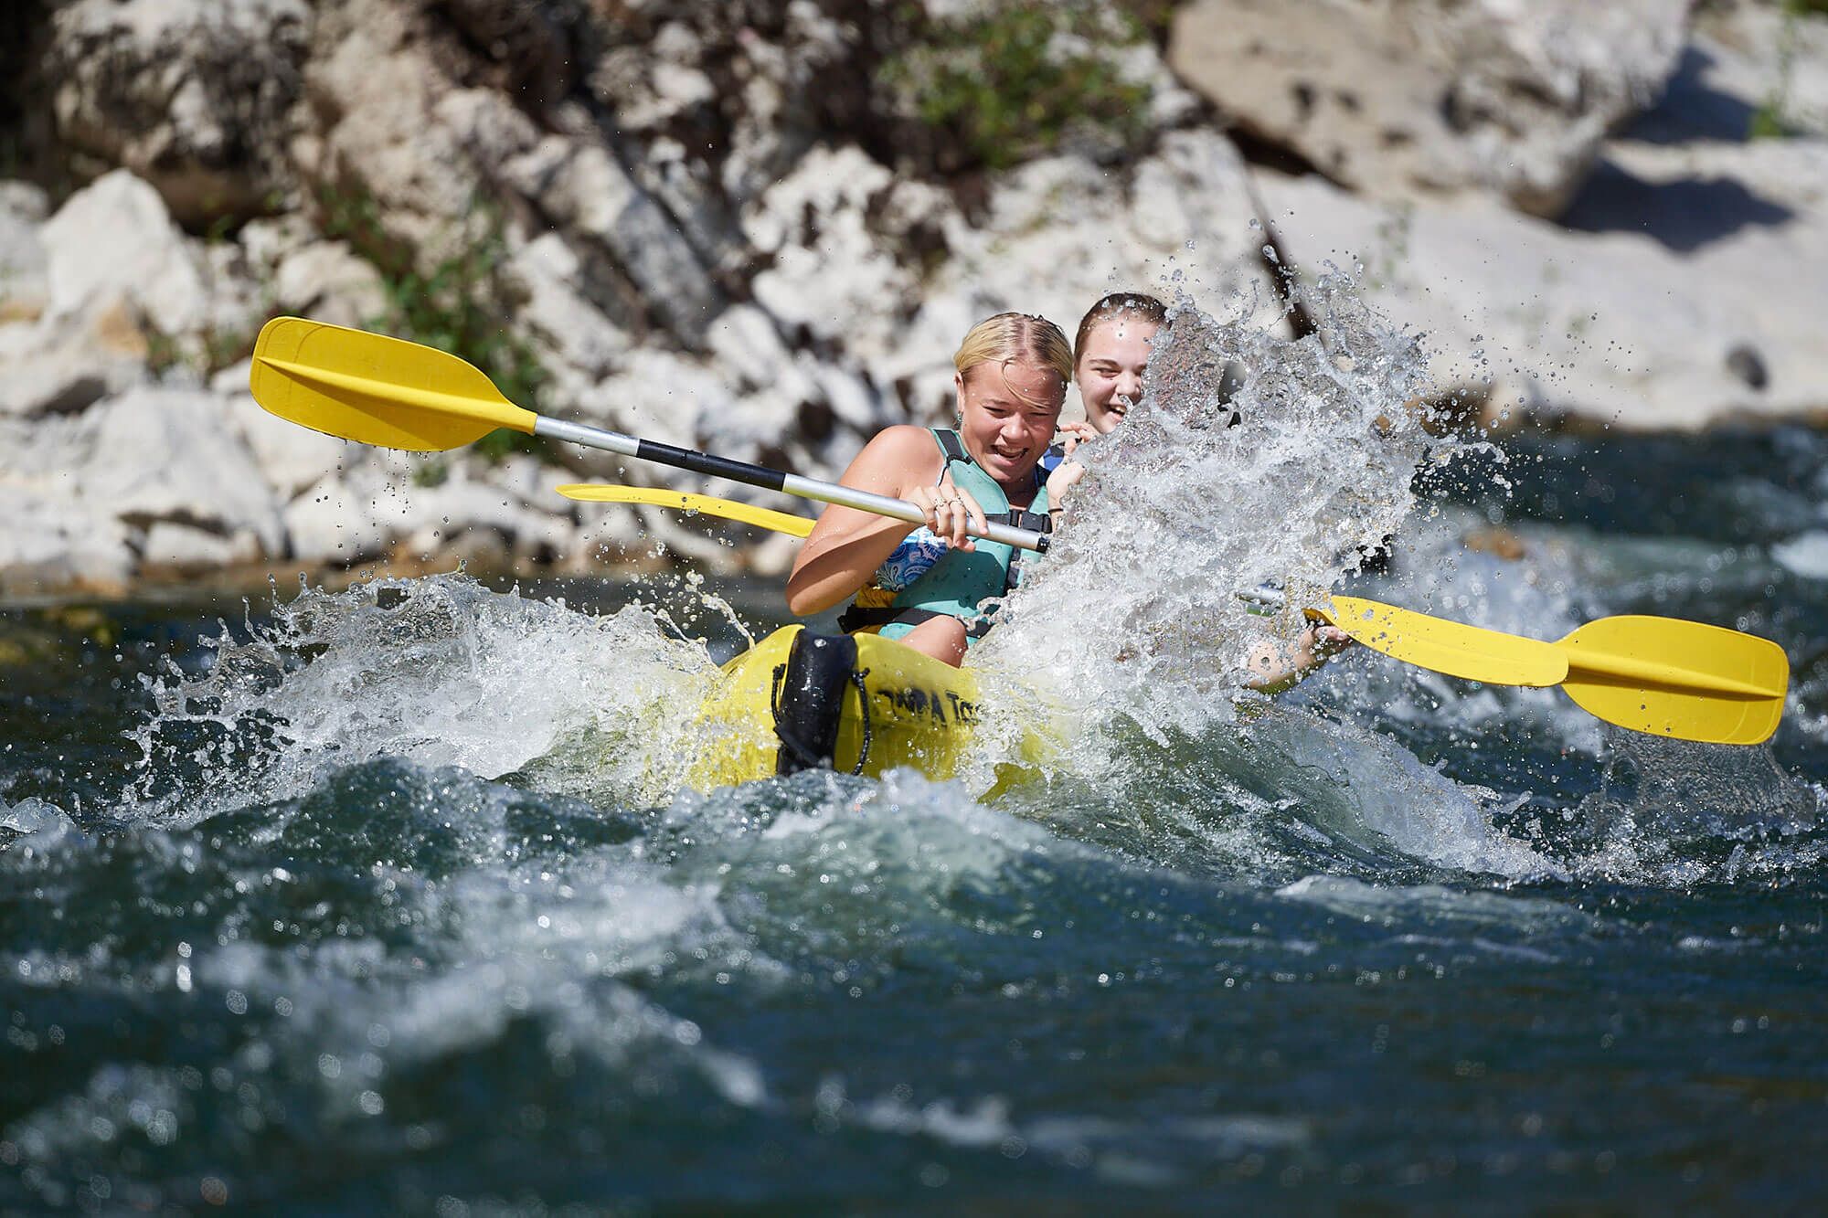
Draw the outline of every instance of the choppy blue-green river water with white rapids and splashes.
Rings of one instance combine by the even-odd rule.
[[[682,790],[762,582],[0,613],[0,1209],[1819,1205],[1828,439],[1440,459],[1334,320],[1111,439],[982,657],[1082,733],[994,797]],[[1784,726],[1362,651],[1239,710],[1285,622],[1201,589],[1387,532],[1417,609],[1775,638]]]

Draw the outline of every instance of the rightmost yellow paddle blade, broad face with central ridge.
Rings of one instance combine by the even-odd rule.
[[[1559,644],[1568,697],[1632,732],[1760,744],[1777,732],[1790,657],[1768,638],[1676,618],[1616,616]]]

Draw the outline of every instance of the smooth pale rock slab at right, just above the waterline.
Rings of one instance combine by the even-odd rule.
[[[1819,417],[1828,143],[1612,146],[1609,157],[1649,201],[1596,232],[1495,205],[1375,203],[1320,177],[1263,172],[1258,185],[1305,271],[1356,271],[1376,307],[1426,333],[1444,390],[1508,386],[1539,415],[1631,430]],[[1709,181],[1755,183],[1762,203],[1749,216],[1698,216],[1685,199]]]

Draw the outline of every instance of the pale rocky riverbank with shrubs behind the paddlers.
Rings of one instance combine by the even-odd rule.
[[[1819,422],[1813,7],[15,5],[0,594],[790,554],[552,492],[658,468],[272,421],[247,351],[282,313],[830,475],[938,419],[958,335],[998,309],[1071,327],[1153,287],[1287,326],[1269,232],[1426,331],[1439,391],[1488,419]]]

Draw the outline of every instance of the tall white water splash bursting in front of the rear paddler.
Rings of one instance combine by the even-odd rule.
[[[1084,448],[1053,552],[974,662],[1157,739],[1234,715],[1249,649],[1292,638],[1302,605],[1400,530],[1435,443],[1411,408],[1426,386],[1415,340],[1345,278],[1313,300],[1323,326],[1300,340],[1186,304],[1172,315],[1141,406]],[[1221,402],[1227,366],[1243,377]],[[1239,600],[1263,583],[1287,589],[1274,618]]]

